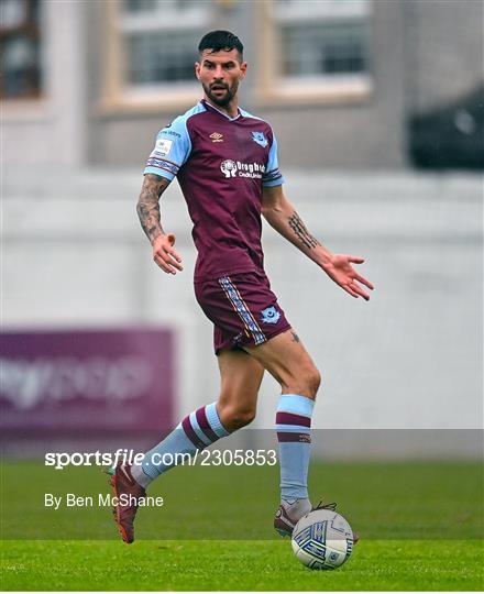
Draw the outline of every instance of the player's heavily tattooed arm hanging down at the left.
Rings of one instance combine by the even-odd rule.
[[[182,258],[173,249],[175,235],[165,233],[160,216],[160,198],[168,187],[169,180],[154,174],[144,176],[136,205],[141,227],[153,246],[153,260],[167,274],[183,271]]]

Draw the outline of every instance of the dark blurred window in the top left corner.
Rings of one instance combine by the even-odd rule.
[[[41,36],[37,0],[0,0],[0,97],[41,95]]]

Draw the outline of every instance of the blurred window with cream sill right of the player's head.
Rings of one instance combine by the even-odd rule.
[[[372,0],[265,0],[261,99],[360,99],[371,90]]]

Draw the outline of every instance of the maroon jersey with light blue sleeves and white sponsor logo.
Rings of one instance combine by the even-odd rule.
[[[277,142],[267,122],[229,118],[205,100],[156,138],[144,173],[178,177],[198,251],[195,282],[263,272],[263,186],[279,186]]]

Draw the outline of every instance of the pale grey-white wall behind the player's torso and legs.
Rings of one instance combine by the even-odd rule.
[[[355,300],[272,229],[266,268],[323,375],[319,428],[482,427],[481,177],[287,175],[316,237],[363,255],[375,285]],[[185,272],[161,273],[139,228],[132,172],[14,172],[4,184],[4,328],[145,323],[178,332],[184,414],[217,397],[211,323],[195,301],[190,223],[176,184],[163,199]],[[255,427],[273,426],[267,377]]]

